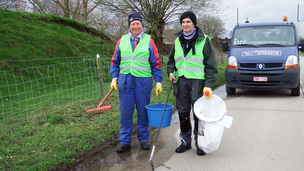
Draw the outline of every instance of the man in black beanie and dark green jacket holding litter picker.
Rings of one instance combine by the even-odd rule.
[[[175,150],[183,153],[191,149],[192,127],[190,121],[191,107],[197,99],[209,91],[212,96],[212,86],[218,75],[214,49],[210,38],[196,27],[196,15],[191,11],[184,12],[180,17],[183,31],[178,32],[169,56],[167,73],[173,79],[173,96],[176,96],[176,108],[180,121],[181,145]],[[178,76],[174,77],[173,73]],[[196,154],[201,156],[206,153],[199,148],[197,143],[199,119],[194,115],[194,140]]]

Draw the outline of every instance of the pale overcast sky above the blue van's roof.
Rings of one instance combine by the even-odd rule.
[[[222,14],[221,19],[226,23],[227,35],[237,23],[237,8],[239,23],[249,22],[276,22],[283,21],[284,15],[288,21],[297,21],[299,4],[300,34],[304,37],[304,0],[223,0],[221,9],[228,7]],[[227,15],[227,16],[223,16]]]

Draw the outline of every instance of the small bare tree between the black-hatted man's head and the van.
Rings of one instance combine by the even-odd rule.
[[[209,16],[199,19],[198,26],[202,29],[204,34],[209,35],[210,38],[221,36],[226,32],[225,23],[219,17]]]

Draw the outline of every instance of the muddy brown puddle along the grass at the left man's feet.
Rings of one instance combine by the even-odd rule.
[[[154,144],[155,135],[157,128],[150,128],[150,144],[151,147]],[[140,143],[137,140],[137,133],[132,135],[131,148],[124,153],[116,153],[116,147],[118,144],[113,143],[105,151],[102,151],[88,159],[85,159],[82,163],[70,167],[69,171],[85,171],[85,170],[94,170],[94,171],[116,171],[116,170],[149,170],[151,166],[149,164],[150,160],[150,150],[140,149]],[[157,149],[163,147],[164,142],[157,140]],[[163,160],[163,159],[161,159]],[[153,158],[153,162],[165,161],[156,160]]]

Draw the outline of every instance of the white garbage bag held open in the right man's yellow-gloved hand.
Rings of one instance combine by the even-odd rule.
[[[219,148],[224,127],[230,128],[233,118],[226,116],[225,102],[216,95],[209,99],[202,96],[194,103],[193,109],[199,118],[198,145],[206,153]]]

